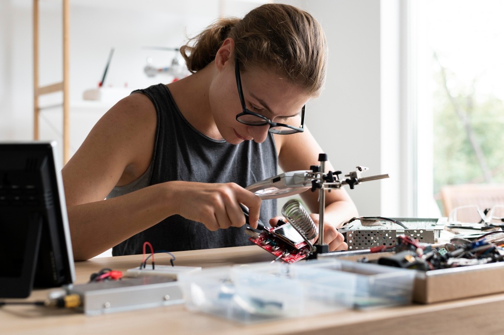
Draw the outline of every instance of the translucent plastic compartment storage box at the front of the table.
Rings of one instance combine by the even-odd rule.
[[[178,279],[188,309],[241,323],[411,302],[415,271],[340,260],[203,269]]]

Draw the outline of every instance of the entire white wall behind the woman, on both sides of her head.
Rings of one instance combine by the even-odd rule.
[[[369,167],[367,175],[390,173],[350,190],[361,215],[403,216],[399,164],[398,0],[282,1],[306,9],[325,29],[330,49],[326,90],[308,105],[307,125],[336,169]],[[101,80],[115,47],[106,85],[132,90],[149,80],[145,59],[167,65],[172,53],[142,46],[179,46],[219,14],[241,16],[258,1],[72,0],[70,41],[71,139],[74,152],[92,124],[112,104],[84,104],[84,90]],[[0,141],[32,138],[31,0],[0,2]],[[41,84],[61,78],[60,2],[41,0]],[[383,46],[387,45],[387,48]],[[45,103],[59,101],[60,96]],[[51,101],[48,101],[51,100]],[[58,139],[59,109],[44,112],[42,138]],[[365,174],[365,175],[366,175]]]

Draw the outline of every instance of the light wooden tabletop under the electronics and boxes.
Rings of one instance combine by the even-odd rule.
[[[272,260],[257,246],[175,252],[176,265],[219,266]],[[169,264],[169,255],[156,254],[156,264]],[[76,284],[103,267],[125,271],[138,266],[141,255],[94,258],[76,262]],[[477,285],[477,283],[475,283]],[[37,290],[27,300],[41,300]],[[99,316],[73,310],[36,306],[0,308],[0,334],[500,334],[504,294],[432,305],[410,305],[366,311],[343,310],[317,316],[242,325],[194,313],[184,305],[163,306]]]

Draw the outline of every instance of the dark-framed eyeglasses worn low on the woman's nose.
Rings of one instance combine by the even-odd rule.
[[[268,129],[269,132],[281,135],[293,134],[295,132],[304,131],[304,110],[306,109],[306,105],[304,105],[303,108],[301,108],[301,125],[299,127],[294,127],[292,125],[284,123],[272,122],[266,116],[255,113],[246,108],[245,99],[243,98],[243,91],[241,90],[240,65],[238,62],[238,58],[235,59],[234,73],[236,75],[236,85],[238,86],[238,94],[240,96],[241,107],[243,108],[243,111],[238,115],[236,115],[236,120],[238,122],[247,125],[257,125],[257,126],[269,124],[270,125],[270,128]]]

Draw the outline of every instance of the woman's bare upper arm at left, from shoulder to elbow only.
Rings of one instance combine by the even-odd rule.
[[[115,185],[140,177],[152,160],[156,122],[155,108],[145,95],[132,94],[117,102],[62,170],[65,191],[67,186],[79,190],[67,198],[74,204],[102,200]]]

